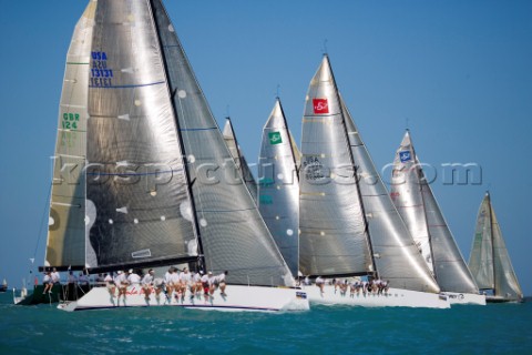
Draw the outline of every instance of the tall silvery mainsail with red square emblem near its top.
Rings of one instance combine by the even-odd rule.
[[[328,57],[310,81],[301,133],[299,267],[305,275],[371,273],[366,222]]]

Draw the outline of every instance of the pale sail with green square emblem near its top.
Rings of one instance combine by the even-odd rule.
[[[280,100],[263,129],[258,159],[259,211],[290,272],[299,263],[299,178]]]

